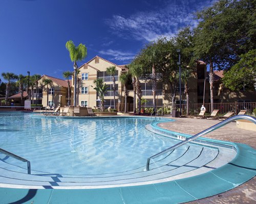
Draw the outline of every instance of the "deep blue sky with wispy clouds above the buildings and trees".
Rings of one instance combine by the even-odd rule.
[[[0,73],[47,74],[63,79],[73,71],[66,49],[72,40],[118,65],[160,36],[174,36],[198,21],[195,12],[216,0],[0,0]],[[0,76],[3,80],[3,77]]]

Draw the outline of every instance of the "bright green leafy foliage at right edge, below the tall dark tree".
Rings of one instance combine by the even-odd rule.
[[[231,90],[241,90],[244,86],[256,90],[256,49],[241,55],[241,60],[229,71],[224,72],[222,81]]]

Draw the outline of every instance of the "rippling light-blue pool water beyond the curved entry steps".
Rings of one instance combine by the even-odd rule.
[[[62,119],[0,113],[0,146],[29,160],[34,171],[72,175],[124,172],[145,166],[148,157],[178,143],[147,131],[148,123],[149,118]],[[186,148],[177,149],[173,156]],[[27,171],[25,163],[12,158],[5,162],[13,164],[15,171]]]

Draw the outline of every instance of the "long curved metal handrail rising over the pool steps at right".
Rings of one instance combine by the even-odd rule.
[[[220,123],[218,123],[218,124],[216,124],[214,126],[211,126],[208,129],[206,129],[206,130],[204,130],[204,131],[202,131],[202,132],[200,132],[200,133],[198,133],[198,134],[196,134],[196,135],[194,135],[194,136],[192,136],[192,137],[190,137],[190,138],[188,138],[188,139],[186,139],[186,140],[184,140],[182,142],[179,142],[178,144],[175,144],[172,147],[169,147],[169,148],[159,152],[156,155],[153,155],[153,156],[147,158],[146,170],[147,171],[150,170],[150,160],[151,159],[155,159],[156,157],[159,157],[159,156],[165,154],[168,151],[172,151],[173,149],[176,149],[176,148],[178,148],[178,147],[180,147],[180,146],[182,146],[182,145],[184,145],[184,144],[186,144],[188,142],[191,142],[191,141],[197,139],[198,137],[201,137],[201,136],[203,136],[203,135],[205,135],[207,133],[210,133],[210,132],[212,132],[212,131],[214,131],[214,130],[216,130],[216,129],[218,129],[218,128],[220,128],[220,127],[222,127],[222,126],[224,126],[224,125],[234,121],[234,120],[239,120],[239,119],[246,119],[246,120],[252,121],[252,122],[254,122],[256,124],[256,119],[254,117],[251,117],[251,116],[248,116],[248,115],[236,115],[236,116],[233,116],[231,118],[228,118],[228,119],[226,119],[226,120],[224,120],[224,121],[222,121],[222,122],[220,122]]]

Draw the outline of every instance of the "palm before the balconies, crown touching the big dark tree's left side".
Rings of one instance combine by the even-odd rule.
[[[141,85],[140,85],[139,78],[142,75],[142,66],[134,61],[129,65],[129,71],[130,71],[132,77],[135,79],[134,84],[136,87],[136,94],[139,99],[138,100],[138,114],[140,115],[142,91],[141,91]]]

